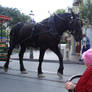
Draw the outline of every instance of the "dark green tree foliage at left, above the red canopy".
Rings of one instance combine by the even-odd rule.
[[[25,22],[30,19],[28,15],[24,15],[17,8],[8,8],[0,6],[0,14],[10,16],[12,18],[12,20],[9,21],[10,26],[16,24],[17,22]]]

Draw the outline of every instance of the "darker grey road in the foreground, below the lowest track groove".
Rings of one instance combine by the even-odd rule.
[[[64,83],[0,74],[0,92],[67,92]]]

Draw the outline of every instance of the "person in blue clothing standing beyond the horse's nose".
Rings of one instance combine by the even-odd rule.
[[[83,34],[83,39],[82,39],[82,51],[81,54],[83,54],[85,51],[87,51],[88,49],[90,49],[90,40],[89,38],[86,36],[86,34]],[[83,59],[79,59],[79,61],[83,61]]]

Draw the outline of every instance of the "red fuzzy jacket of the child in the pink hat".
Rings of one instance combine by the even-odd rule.
[[[92,66],[87,68],[78,81],[75,92],[92,92]]]

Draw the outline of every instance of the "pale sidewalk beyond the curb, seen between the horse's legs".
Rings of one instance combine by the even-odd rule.
[[[33,59],[30,59],[30,53],[29,52],[25,52],[24,53],[24,60],[27,60],[27,61],[38,61],[39,59],[39,51],[33,51]],[[75,55],[71,55],[69,58],[67,59],[64,59],[63,62],[64,63],[67,63],[67,64],[84,64],[83,62],[80,62],[79,61],[79,56],[75,56]],[[16,54],[12,54],[11,55],[11,59],[12,60],[19,60],[19,56],[18,56],[18,53]],[[53,53],[52,51],[49,51],[47,50],[46,53],[45,53],[45,56],[44,56],[44,61],[45,62],[58,62],[58,57],[55,53]]]

